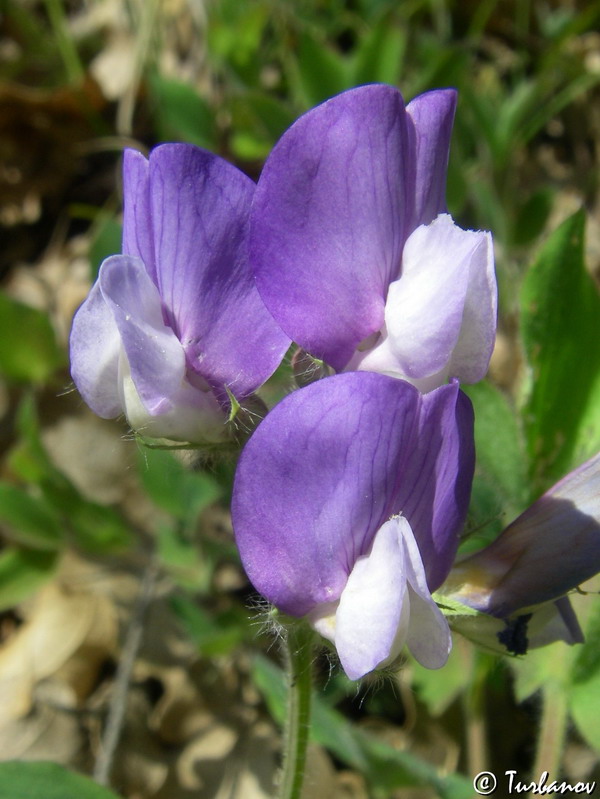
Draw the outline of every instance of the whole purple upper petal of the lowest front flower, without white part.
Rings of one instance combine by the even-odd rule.
[[[433,590],[456,552],[473,465],[473,413],[457,384],[421,397],[349,372],[294,392],[238,465],[232,512],[250,580],[292,615],[335,602],[383,522],[402,513]]]

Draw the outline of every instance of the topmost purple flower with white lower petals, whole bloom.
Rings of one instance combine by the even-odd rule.
[[[382,84],[300,117],[267,159],[251,215],[258,289],[283,330],[337,371],[430,390],[485,374],[496,326],[491,235],[446,210],[456,92],[406,107]]]

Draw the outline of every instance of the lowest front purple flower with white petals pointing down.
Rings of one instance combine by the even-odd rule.
[[[277,405],[242,452],[232,513],[256,587],[335,643],[351,679],[404,644],[450,650],[431,599],[450,570],[473,476],[473,414],[454,382],[430,394],[351,372]]]

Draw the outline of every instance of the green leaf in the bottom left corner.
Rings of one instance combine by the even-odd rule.
[[[82,774],[43,761],[0,763],[0,799],[118,799]]]

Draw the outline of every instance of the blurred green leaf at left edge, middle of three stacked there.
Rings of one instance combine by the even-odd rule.
[[[60,518],[43,496],[34,497],[8,483],[0,483],[0,522],[7,537],[32,549],[59,549],[64,541]]]

